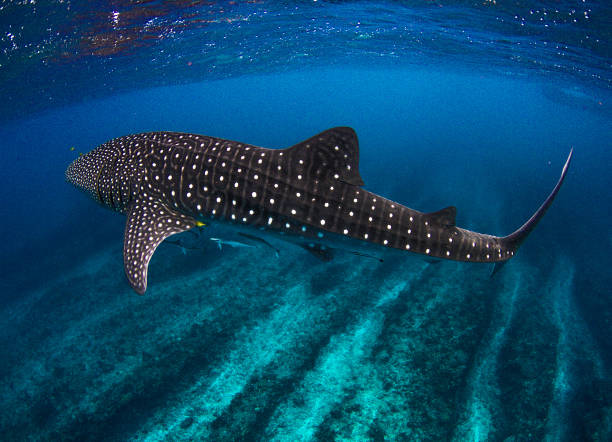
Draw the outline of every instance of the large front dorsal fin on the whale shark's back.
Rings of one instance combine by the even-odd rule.
[[[328,129],[285,149],[285,152],[294,173],[304,169],[306,173],[321,178],[337,179],[355,186],[364,184],[359,175],[359,142],[350,127]],[[301,164],[303,168],[298,167]]]

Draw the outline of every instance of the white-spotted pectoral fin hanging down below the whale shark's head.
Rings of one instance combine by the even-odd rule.
[[[195,227],[196,220],[148,199],[134,201],[127,215],[123,267],[132,288],[142,295],[147,290],[147,269],[157,246],[170,235]]]

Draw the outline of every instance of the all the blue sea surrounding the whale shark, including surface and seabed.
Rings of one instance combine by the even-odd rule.
[[[611,439],[610,17],[588,1],[2,3],[2,439]],[[162,244],[142,297],[125,218],[64,181],[129,133],[286,147],[338,125],[368,190],[496,235],[574,160],[494,278]]]

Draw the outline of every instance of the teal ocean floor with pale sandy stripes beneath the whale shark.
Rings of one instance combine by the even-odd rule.
[[[2,439],[609,440],[572,261],[490,272],[117,241],[3,305]]]

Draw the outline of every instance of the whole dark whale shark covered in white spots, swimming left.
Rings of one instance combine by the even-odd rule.
[[[247,238],[282,238],[323,260],[335,248],[359,255],[367,246],[367,253],[376,247],[499,266],[515,256],[547,211],[571,158],[572,151],[533,216],[503,237],[457,227],[453,206],[424,213],[365,190],[357,135],[349,127],[285,149],[179,132],[127,135],[79,156],[65,176],[98,203],[127,215],[125,274],[144,294],[158,245],[214,224]]]

